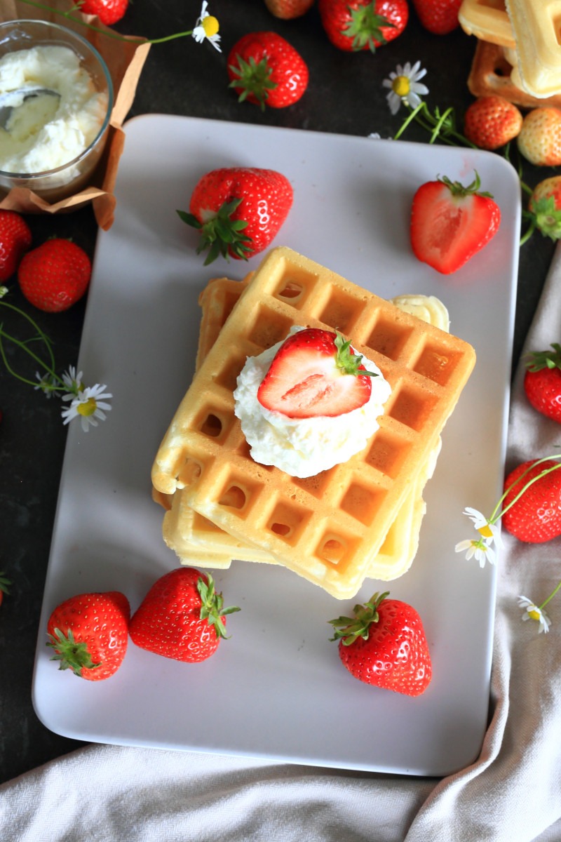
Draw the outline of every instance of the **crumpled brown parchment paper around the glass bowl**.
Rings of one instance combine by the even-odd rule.
[[[68,0],[45,0],[45,5],[52,9],[68,11],[72,3]],[[122,129],[126,115],[135,99],[136,87],[140,79],[140,72],[150,44],[144,38],[133,35],[123,36],[124,40],[102,35],[94,29],[88,29],[80,23],[80,19],[93,24],[103,32],[114,30],[104,26],[97,17],[80,13],[73,13],[76,20],[63,17],[56,12],[36,8],[22,0],[0,0],[0,21],[32,19],[46,20],[60,24],[67,29],[73,29],[86,38],[101,53],[108,71],[111,74],[114,87],[114,108],[109,121],[108,140],[103,156],[92,176],[92,183],[80,190],[76,195],[66,196],[55,204],[49,204],[30,189],[14,188],[0,201],[0,208],[17,210],[19,213],[68,213],[71,210],[87,205],[93,205],[93,213],[98,226],[105,231],[114,221],[115,197],[114,185],[119,168],[119,158],[124,148],[124,131]]]

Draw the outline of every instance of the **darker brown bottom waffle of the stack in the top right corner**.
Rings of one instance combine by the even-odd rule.
[[[543,105],[561,107],[561,95],[537,99],[518,88],[511,76],[512,65],[505,57],[504,48],[487,41],[478,41],[468,76],[468,88],[474,97],[497,93],[520,108],[537,108]]]

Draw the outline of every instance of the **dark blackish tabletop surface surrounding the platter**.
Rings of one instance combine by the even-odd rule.
[[[150,38],[191,29],[200,3],[188,0],[135,0],[116,29]],[[260,125],[282,125],[310,131],[366,136],[377,131],[393,136],[403,112],[389,113],[382,80],[398,62],[420,59],[427,68],[427,102],[441,109],[453,106],[458,117],[471,102],[466,86],[474,39],[461,30],[446,37],[430,35],[411,13],[405,33],[369,53],[336,51],[312,9],[304,18],[279,21],[262,0],[211,0],[209,11],[220,20],[222,53],[188,39],[151,48],[131,110],[132,115],[158,112],[235,120]],[[228,51],[246,32],[273,29],[287,38],[308,61],[310,86],[290,109],[262,113],[250,104],[238,104],[227,88]],[[228,131],[225,122],[225,132]],[[407,140],[427,142],[418,127]],[[188,154],[188,150],[185,151]],[[435,173],[437,174],[437,173]],[[527,184],[550,175],[526,168]],[[329,173],[325,173],[329,178]],[[186,196],[186,203],[188,197]],[[117,213],[119,208],[117,208]],[[37,244],[53,234],[71,236],[93,256],[96,226],[91,210],[66,216],[30,216]],[[342,245],[342,244],[341,244]],[[513,359],[532,319],[542,284],[553,256],[553,243],[540,235],[521,250]],[[13,303],[22,303],[15,290]],[[482,302],[484,306],[484,302]],[[77,360],[85,301],[66,313],[49,316],[34,312],[40,327],[52,339],[57,366],[66,369]],[[2,314],[4,326],[19,330]],[[553,340],[554,338],[552,338]],[[31,372],[34,376],[34,370]],[[0,609],[0,782],[66,754],[81,743],[50,733],[39,722],[31,704],[31,680],[40,605],[56,510],[66,428],[60,408],[29,386],[15,381],[0,368],[0,570],[13,580],[10,596]]]

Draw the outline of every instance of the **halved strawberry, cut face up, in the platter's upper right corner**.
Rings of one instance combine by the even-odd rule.
[[[413,197],[410,242],[415,257],[452,274],[495,237],[500,208],[479,190],[478,173],[467,187],[442,176],[421,184]]]

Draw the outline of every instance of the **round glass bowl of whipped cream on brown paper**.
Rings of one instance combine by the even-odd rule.
[[[56,202],[87,186],[113,101],[108,67],[82,35],[43,20],[0,24],[0,196],[26,188]]]

